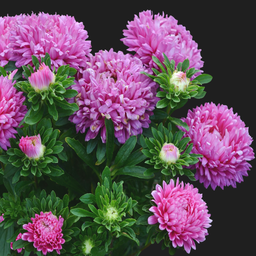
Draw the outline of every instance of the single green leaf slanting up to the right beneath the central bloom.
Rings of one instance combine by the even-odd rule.
[[[122,167],[126,165],[126,160],[128,156],[131,154],[131,152],[134,149],[134,146],[136,145],[137,137],[131,136],[120,148],[120,150],[117,153],[117,156],[115,158],[115,165],[118,167]]]

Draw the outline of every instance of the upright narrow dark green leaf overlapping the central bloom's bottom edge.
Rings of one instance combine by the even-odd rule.
[[[111,119],[105,118],[105,126],[107,133],[107,141],[106,141],[106,153],[107,153],[107,166],[110,165],[113,151],[114,151],[114,124]]]

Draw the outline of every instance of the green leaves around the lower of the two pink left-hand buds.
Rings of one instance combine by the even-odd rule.
[[[16,143],[14,139],[10,139],[11,148],[7,150],[7,155],[0,156],[0,161],[6,164],[12,163],[18,168],[18,171],[13,176],[13,183],[18,182],[20,176],[28,176],[30,173],[37,177],[40,177],[42,172],[52,176],[60,176],[64,173],[58,165],[53,165],[58,163],[58,158],[53,154],[65,161],[67,156],[63,151],[63,143],[57,141],[60,131],[53,130],[50,119],[44,118],[37,125],[28,126],[24,130],[17,129],[17,131],[20,137],[40,134],[42,145],[46,146],[46,150],[44,156],[39,158],[38,161],[29,159],[19,148],[19,143]]]

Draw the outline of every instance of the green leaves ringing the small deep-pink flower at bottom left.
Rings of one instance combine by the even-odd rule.
[[[52,191],[50,195],[46,195],[45,190],[42,190],[39,198],[35,195],[31,198],[26,198],[26,208],[27,208],[27,218],[21,218],[17,221],[19,225],[27,224],[31,222],[31,218],[35,218],[35,214],[40,215],[40,212],[49,212],[55,215],[57,218],[61,216],[64,219],[62,226],[63,239],[65,243],[62,245],[61,254],[69,253],[71,250],[75,248],[73,245],[72,238],[77,236],[80,233],[80,229],[77,227],[72,227],[73,223],[78,221],[79,218],[70,214],[69,212],[69,196],[64,195],[61,200],[56,196],[55,192]],[[12,237],[9,239],[10,242],[13,242],[19,232],[24,233],[25,230],[18,229]],[[34,251],[34,253],[38,253],[37,249],[33,246],[33,243],[29,243],[28,241],[24,241],[22,239],[17,240],[13,243],[13,250],[19,248],[25,248],[27,252]],[[52,252],[53,255],[57,256],[56,251]]]

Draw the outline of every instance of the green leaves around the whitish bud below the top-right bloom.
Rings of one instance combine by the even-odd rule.
[[[161,109],[169,106],[172,110],[174,108],[179,109],[185,105],[187,99],[189,98],[203,98],[206,94],[204,91],[205,87],[200,85],[209,83],[212,80],[212,76],[208,74],[198,75],[190,82],[189,86],[184,91],[175,92],[175,85],[170,83],[171,76],[175,70],[186,73],[187,78],[191,78],[195,73],[199,72],[199,70],[196,70],[195,68],[188,69],[188,59],[184,60],[183,62],[179,62],[177,68],[175,69],[175,61],[171,60],[170,62],[164,53],[163,55],[163,64],[165,66],[158,60],[157,57],[152,56],[153,61],[158,65],[162,72],[159,72],[155,68],[152,68],[152,70],[156,76],[144,72],[144,74],[157,82],[158,85],[163,89],[157,93],[157,97],[162,98],[158,101],[157,108]]]

